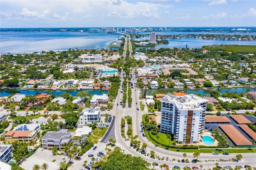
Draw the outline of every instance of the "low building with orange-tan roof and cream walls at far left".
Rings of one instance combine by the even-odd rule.
[[[37,138],[37,131],[30,130],[30,131],[8,131],[4,134],[4,140],[6,142],[14,142],[18,140],[20,142],[29,142],[30,140],[36,141]]]

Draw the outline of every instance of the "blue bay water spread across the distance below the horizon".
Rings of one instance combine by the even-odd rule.
[[[141,32],[138,34],[150,34]],[[161,35],[179,34],[239,34],[239,33],[217,33],[217,32],[156,32]],[[253,33],[242,33],[256,35]],[[121,35],[89,32],[0,32],[0,54],[7,53],[30,53],[46,50],[68,50],[71,49],[109,49],[110,43],[115,39],[123,38]],[[146,39],[149,37],[146,37]],[[173,48],[186,47],[201,48],[203,45],[214,44],[238,44],[256,45],[256,41],[229,41],[229,40],[202,40],[200,38],[168,39],[169,44],[156,45],[146,48]],[[113,48],[114,49],[114,48]]]

